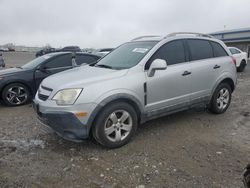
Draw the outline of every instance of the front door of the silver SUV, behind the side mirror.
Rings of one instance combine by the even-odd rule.
[[[147,62],[145,69],[155,59],[166,60],[166,70],[156,71],[147,80],[146,110],[175,110],[189,104],[191,67],[187,62],[183,40],[174,40],[164,44]]]

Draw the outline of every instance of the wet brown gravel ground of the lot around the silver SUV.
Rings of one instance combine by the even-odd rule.
[[[38,122],[31,105],[0,105],[0,187],[243,187],[250,67],[238,77],[225,114],[192,110],[153,120],[115,150],[61,139]]]

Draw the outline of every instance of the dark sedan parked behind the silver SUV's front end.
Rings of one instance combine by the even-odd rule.
[[[0,97],[8,106],[18,106],[29,102],[41,81],[58,72],[71,69],[73,64],[96,62],[100,56],[70,52],[57,52],[38,57],[16,68],[0,71]]]

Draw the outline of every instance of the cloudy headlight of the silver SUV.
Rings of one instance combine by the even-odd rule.
[[[55,100],[58,105],[71,105],[75,103],[81,92],[82,89],[64,89],[58,91],[52,100]]]

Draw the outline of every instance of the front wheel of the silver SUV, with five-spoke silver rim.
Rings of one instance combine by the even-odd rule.
[[[99,113],[92,134],[99,144],[107,148],[118,148],[130,141],[137,125],[135,109],[125,102],[117,102],[107,105]]]

